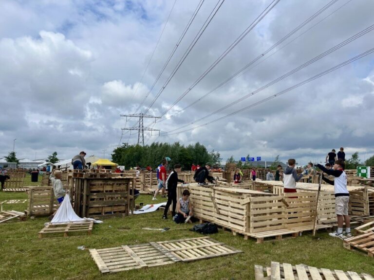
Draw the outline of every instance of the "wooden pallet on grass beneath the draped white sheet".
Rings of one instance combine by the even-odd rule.
[[[68,237],[72,233],[84,233],[87,232],[91,235],[93,227],[93,221],[86,222],[70,222],[70,223],[58,223],[58,224],[48,224],[42,230],[39,231],[38,237]]]

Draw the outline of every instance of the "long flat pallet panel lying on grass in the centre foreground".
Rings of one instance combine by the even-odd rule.
[[[90,249],[91,257],[101,273],[159,266],[174,262],[191,262],[240,252],[242,251],[209,237]]]

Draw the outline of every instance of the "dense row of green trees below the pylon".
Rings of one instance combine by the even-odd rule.
[[[222,160],[219,152],[214,150],[209,152],[199,142],[188,146],[181,145],[179,142],[173,144],[156,142],[145,146],[123,143],[112,153],[113,162],[124,165],[126,169],[136,165],[151,166],[154,169],[161,163],[163,157],[171,158],[171,168],[175,163],[179,163],[184,170],[190,170],[193,163],[205,165],[210,162],[213,166],[219,166]]]

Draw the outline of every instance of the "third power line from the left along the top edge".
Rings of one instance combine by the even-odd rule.
[[[205,32],[205,30],[208,27],[209,23],[212,21],[212,19],[214,18],[214,16],[217,14],[218,10],[221,8],[221,6],[222,6],[223,3],[224,3],[224,0],[218,0],[217,4],[215,5],[215,7],[213,8],[213,10],[211,11],[210,15],[208,16],[208,18],[206,19],[206,21],[204,22],[204,24],[202,25],[202,27],[200,28],[200,30],[198,31],[198,33],[195,35],[195,38],[192,40],[191,44],[188,46],[186,52],[183,54],[182,58],[179,60],[179,62],[175,66],[175,68],[172,70],[171,74],[169,75],[168,79],[166,80],[166,82],[164,83],[164,85],[162,86],[162,88],[159,90],[159,92],[157,93],[157,95],[151,101],[151,103],[148,106],[148,108],[145,110],[145,112],[144,112],[145,114],[149,111],[150,107],[156,102],[156,100],[158,99],[158,97],[160,96],[160,94],[168,86],[168,83],[174,77],[175,73],[179,70],[179,68],[182,66],[182,64],[186,60],[188,54],[192,51],[193,47],[196,45],[196,43],[200,39],[201,35],[203,35],[203,33]]]

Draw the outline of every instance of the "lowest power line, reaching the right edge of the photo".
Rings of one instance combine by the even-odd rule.
[[[346,61],[344,61],[344,62],[342,62],[342,63],[340,63],[340,64],[338,64],[338,65],[336,65],[336,66],[334,66],[334,67],[332,67],[332,68],[330,68],[330,69],[328,69],[328,70],[325,70],[325,71],[323,71],[323,72],[320,72],[319,74],[314,75],[314,76],[310,77],[309,79],[306,79],[306,80],[304,80],[304,81],[302,81],[302,82],[300,82],[300,83],[298,83],[298,84],[296,84],[296,85],[294,85],[294,86],[292,86],[292,87],[286,88],[286,89],[284,89],[284,90],[282,90],[282,91],[280,91],[280,92],[278,92],[278,93],[276,93],[276,94],[273,94],[273,95],[271,95],[271,96],[268,96],[267,98],[264,98],[264,99],[262,99],[262,100],[260,100],[260,101],[258,101],[258,102],[256,102],[256,103],[254,103],[254,104],[251,104],[251,105],[245,106],[244,108],[242,108],[242,109],[240,109],[240,110],[237,110],[237,111],[234,111],[234,112],[232,112],[232,113],[230,113],[230,114],[227,114],[227,115],[225,115],[225,116],[223,116],[223,117],[221,117],[221,118],[218,118],[218,119],[215,119],[215,120],[210,121],[210,122],[208,122],[208,123],[200,124],[200,125],[197,125],[197,126],[195,126],[195,127],[188,128],[188,129],[185,129],[185,130],[182,130],[182,131],[178,131],[178,132],[174,132],[174,133],[168,133],[168,132],[167,132],[167,133],[162,134],[162,135],[164,136],[164,135],[179,134],[179,133],[182,133],[182,132],[186,132],[186,131],[189,131],[189,130],[196,129],[196,128],[198,128],[198,127],[201,127],[201,126],[204,126],[204,125],[207,125],[207,124],[210,124],[210,123],[216,123],[216,122],[219,122],[219,121],[221,121],[221,120],[223,120],[223,119],[225,119],[225,118],[227,118],[227,117],[231,117],[231,116],[236,115],[236,114],[238,114],[238,113],[241,113],[241,112],[243,112],[243,111],[245,111],[245,110],[247,110],[247,109],[249,109],[249,108],[252,108],[252,107],[254,107],[254,106],[257,106],[257,105],[260,105],[260,104],[262,104],[262,103],[265,103],[265,102],[267,102],[267,101],[269,101],[269,100],[271,100],[271,99],[273,99],[273,98],[276,98],[277,96],[283,95],[283,94],[287,93],[288,91],[290,91],[290,90],[292,90],[292,89],[299,88],[300,86],[302,86],[302,85],[304,85],[304,84],[307,84],[307,83],[309,83],[309,82],[311,82],[311,81],[314,81],[314,80],[316,80],[316,79],[318,79],[318,78],[320,78],[320,77],[322,77],[322,76],[324,76],[324,75],[326,75],[326,74],[328,74],[328,73],[330,73],[330,72],[333,72],[333,71],[335,71],[335,70],[337,70],[337,69],[339,69],[339,68],[342,68],[342,67],[344,67],[344,66],[346,66],[346,65],[348,65],[348,64],[350,64],[350,63],[352,63],[352,62],[355,62],[356,60],[361,59],[361,58],[363,58],[363,57],[365,57],[365,56],[367,56],[367,55],[369,55],[369,54],[371,54],[371,53],[374,53],[374,48],[372,48],[372,49],[370,49],[370,50],[368,50],[368,51],[366,51],[366,52],[364,52],[364,53],[358,54],[358,55],[356,55],[355,57],[352,57],[352,58],[350,58],[350,59],[348,59],[348,60],[346,60]]]

